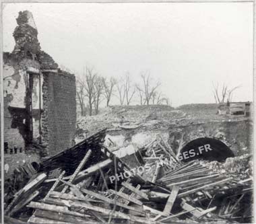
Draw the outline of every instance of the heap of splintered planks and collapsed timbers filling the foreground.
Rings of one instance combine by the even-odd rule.
[[[7,204],[5,221],[250,222],[251,178],[228,176],[205,161],[183,163],[161,136],[135,150],[131,167],[131,157],[103,145],[105,135],[101,130],[42,161]]]

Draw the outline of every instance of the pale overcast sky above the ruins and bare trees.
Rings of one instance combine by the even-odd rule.
[[[7,3],[4,51],[23,10],[42,50],[78,74],[88,66],[137,81],[149,71],[173,106],[214,103],[217,82],[242,85],[233,100],[253,100],[253,3]]]

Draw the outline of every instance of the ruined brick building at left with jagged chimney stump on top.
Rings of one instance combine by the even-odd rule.
[[[5,179],[71,147],[76,122],[75,75],[41,50],[30,11],[16,20],[15,47],[3,53]]]

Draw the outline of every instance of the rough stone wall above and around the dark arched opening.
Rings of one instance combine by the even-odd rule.
[[[177,151],[181,137],[183,146],[200,137],[210,137],[224,142],[235,155],[252,153],[253,122],[250,119],[226,122],[205,122],[169,128],[168,143]]]

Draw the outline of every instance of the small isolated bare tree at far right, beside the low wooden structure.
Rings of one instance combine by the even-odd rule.
[[[235,87],[233,87],[232,89],[228,89],[228,85],[226,85],[225,83],[223,83],[222,88],[219,89],[219,84],[217,83],[217,85],[214,85],[214,99],[216,101],[216,104],[220,104],[220,103],[224,103],[224,102],[230,102],[232,99],[232,94],[234,92],[234,90],[238,89],[239,87],[241,87],[241,85],[237,85]]]

